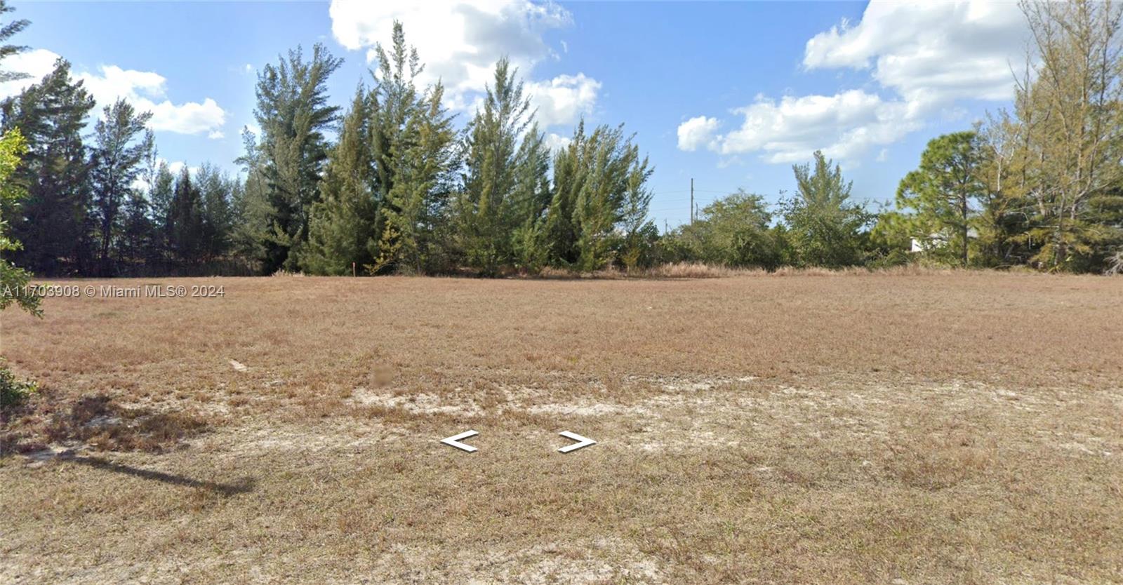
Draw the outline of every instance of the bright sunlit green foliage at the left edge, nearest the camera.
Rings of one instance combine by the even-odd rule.
[[[16,166],[19,165],[19,156],[26,149],[27,146],[19,129],[8,130],[0,138],[0,254],[20,248],[19,241],[8,236],[8,222],[4,220],[4,216],[24,195],[20,188],[10,181],[10,177],[16,171]],[[27,289],[29,280],[30,274],[0,257],[0,311],[7,309],[11,303],[16,303],[20,309],[31,314],[42,314],[39,298]]]

